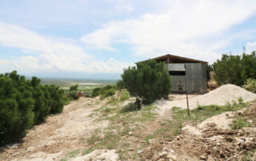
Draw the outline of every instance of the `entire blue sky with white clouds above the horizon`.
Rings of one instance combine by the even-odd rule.
[[[0,73],[119,79],[167,53],[256,50],[255,0],[0,0]]]

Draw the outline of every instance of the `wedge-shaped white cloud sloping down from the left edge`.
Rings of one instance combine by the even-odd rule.
[[[29,29],[20,26],[11,26],[0,22],[0,44],[19,48],[26,53],[54,53],[57,56],[68,56],[89,59],[81,47],[73,45],[70,41],[59,41],[43,37]]]

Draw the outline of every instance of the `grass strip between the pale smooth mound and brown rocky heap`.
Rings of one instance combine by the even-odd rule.
[[[222,112],[238,111],[239,109],[246,108],[246,104],[229,104],[224,106],[209,105],[198,106],[190,111],[190,116],[187,115],[186,109],[178,107],[172,108],[172,120],[164,120],[161,125],[162,128],[157,129],[153,134],[147,135],[145,140],[153,138],[170,138],[173,135],[179,135],[182,127],[186,124],[200,123],[212,116],[221,114]],[[241,121],[238,121],[234,126],[240,126]],[[231,125],[233,126],[233,125]],[[243,125],[241,125],[243,126]]]

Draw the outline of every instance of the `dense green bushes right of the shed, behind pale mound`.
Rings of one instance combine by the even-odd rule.
[[[221,84],[236,84],[242,86],[247,79],[256,79],[256,56],[243,53],[242,56],[222,55],[213,65],[215,81]]]

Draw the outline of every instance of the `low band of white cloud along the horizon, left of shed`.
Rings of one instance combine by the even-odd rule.
[[[55,60],[55,61],[52,61]],[[56,62],[58,60],[58,62]],[[64,63],[63,63],[64,62]],[[110,58],[108,61],[90,61],[82,64],[76,59],[54,55],[39,55],[39,57],[21,57],[13,60],[0,61],[0,73],[18,70],[22,73],[50,72],[80,72],[80,73],[122,73],[123,69],[133,65]]]

